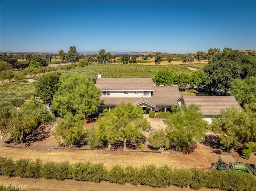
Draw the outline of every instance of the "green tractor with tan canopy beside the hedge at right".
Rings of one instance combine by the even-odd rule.
[[[235,161],[230,155],[220,155],[218,162],[212,164],[212,168],[217,170],[233,170],[239,172],[248,172],[256,175],[254,164]]]

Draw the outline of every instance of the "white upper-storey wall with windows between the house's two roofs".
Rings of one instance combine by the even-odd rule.
[[[128,94],[125,94],[124,92],[127,92]],[[110,91],[110,95],[103,95],[102,91],[102,97],[151,97],[151,91],[147,91],[146,95],[144,95],[144,91]]]

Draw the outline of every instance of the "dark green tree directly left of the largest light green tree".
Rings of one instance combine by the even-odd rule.
[[[36,83],[36,93],[46,104],[50,104],[55,92],[58,90],[60,72],[48,73],[41,76]]]

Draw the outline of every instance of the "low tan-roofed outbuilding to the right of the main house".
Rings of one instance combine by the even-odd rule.
[[[234,96],[182,96],[177,100],[177,107],[181,105],[187,107],[192,104],[200,106],[201,112],[208,123],[212,122],[213,115],[221,114],[221,109],[235,107],[242,110]]]

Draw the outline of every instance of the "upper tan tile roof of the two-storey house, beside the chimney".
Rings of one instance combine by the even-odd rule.
[[[101,90],[153,90],[152,78],[97,78]]]

